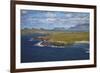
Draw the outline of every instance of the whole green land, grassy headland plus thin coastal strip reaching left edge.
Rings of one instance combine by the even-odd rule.
[[[69,31],[49,31],[39,29],[24,29],[21,30],[22,35],[30,34],[47,34],[42,36],[44,40],[55,45],[72,44],[76,41],[89,41],[89,32],[69,32]]]

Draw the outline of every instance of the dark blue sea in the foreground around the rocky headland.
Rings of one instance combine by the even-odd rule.
[[[21,37],[21,62],[45,62],[89,59],[89,44],[73,44],[65,48],[34,46],[39,40],[29,41],[40,34]]]

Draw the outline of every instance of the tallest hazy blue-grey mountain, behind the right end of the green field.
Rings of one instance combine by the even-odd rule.
[[[89,31],[89,24],[78,24],[74,27],[70,27],[68,31],[81,31],[81,32],[88,32]]]

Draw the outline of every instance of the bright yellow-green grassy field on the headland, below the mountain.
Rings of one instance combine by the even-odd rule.
[[[49,42],[57,44],[70,44],[75,41],[89,41],[88,32],[53,32],[46,37],[49,38]]]

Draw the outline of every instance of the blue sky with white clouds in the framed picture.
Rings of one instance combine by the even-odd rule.
[[[64,11],[39,11],[21,10],[21,29],[23,28],[65,28],[79,24],[89,24],[90,14],[87,12],[64,12]]]

